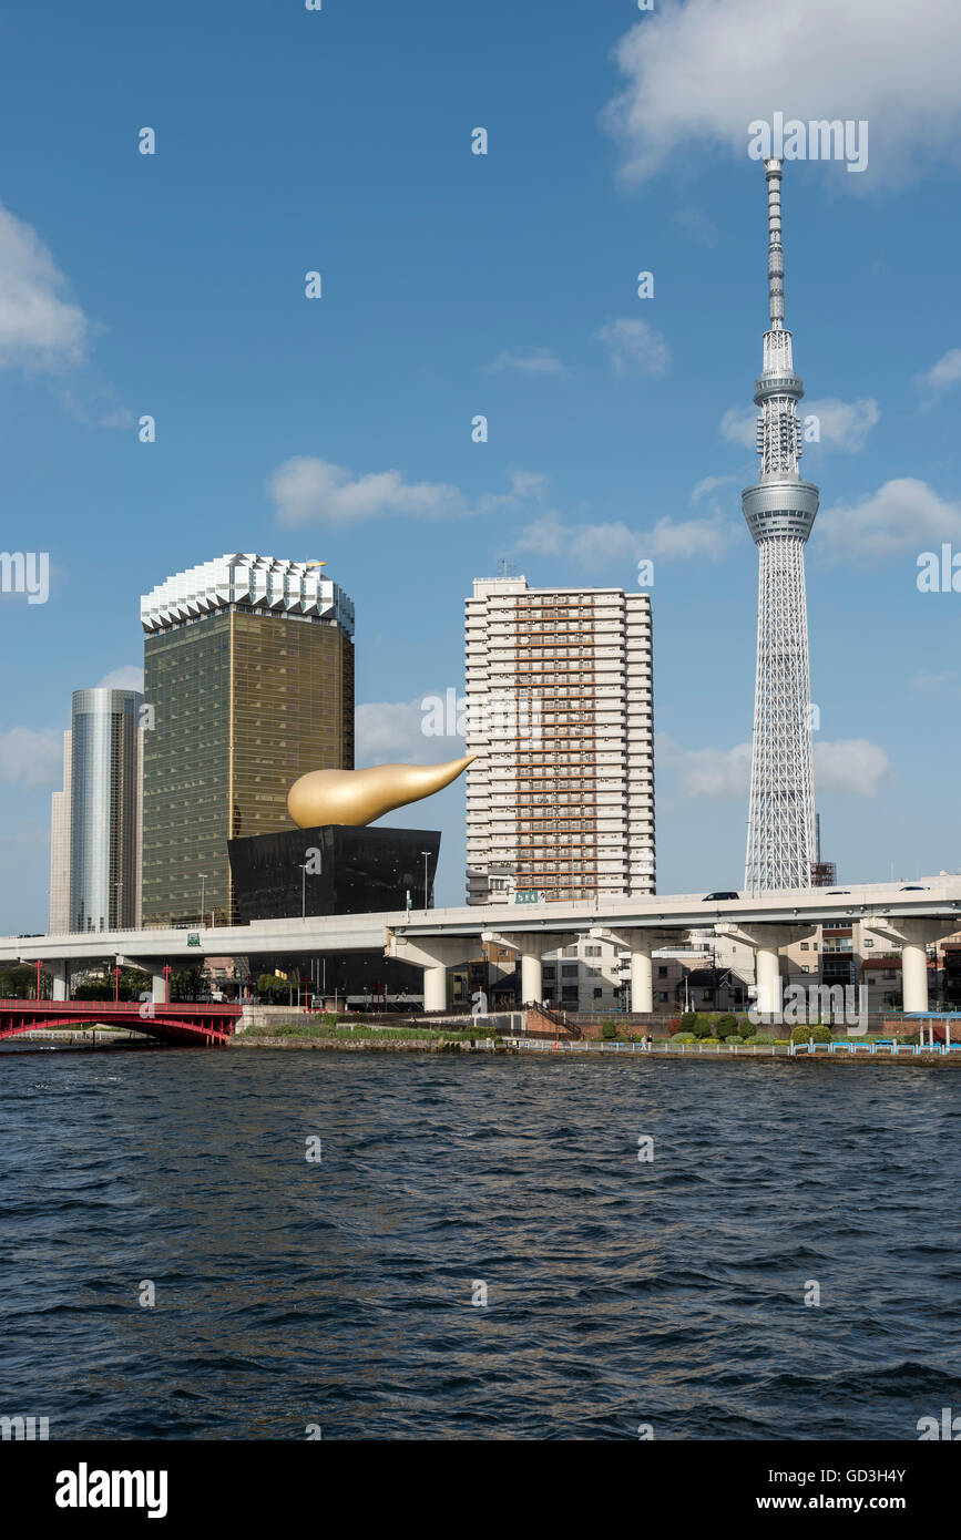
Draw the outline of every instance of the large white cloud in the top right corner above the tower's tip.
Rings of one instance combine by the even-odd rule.
[[[704,149],[747,160],[748,123],[775,109],[867,119],[869,169],[824,168],[859,192],[909,180],[938,154],[956,162],[959,55],[956,0],[912,0],[910,12],[904,0],[658,0],[614,49],[627,83],[605,122],[639,182]]]

